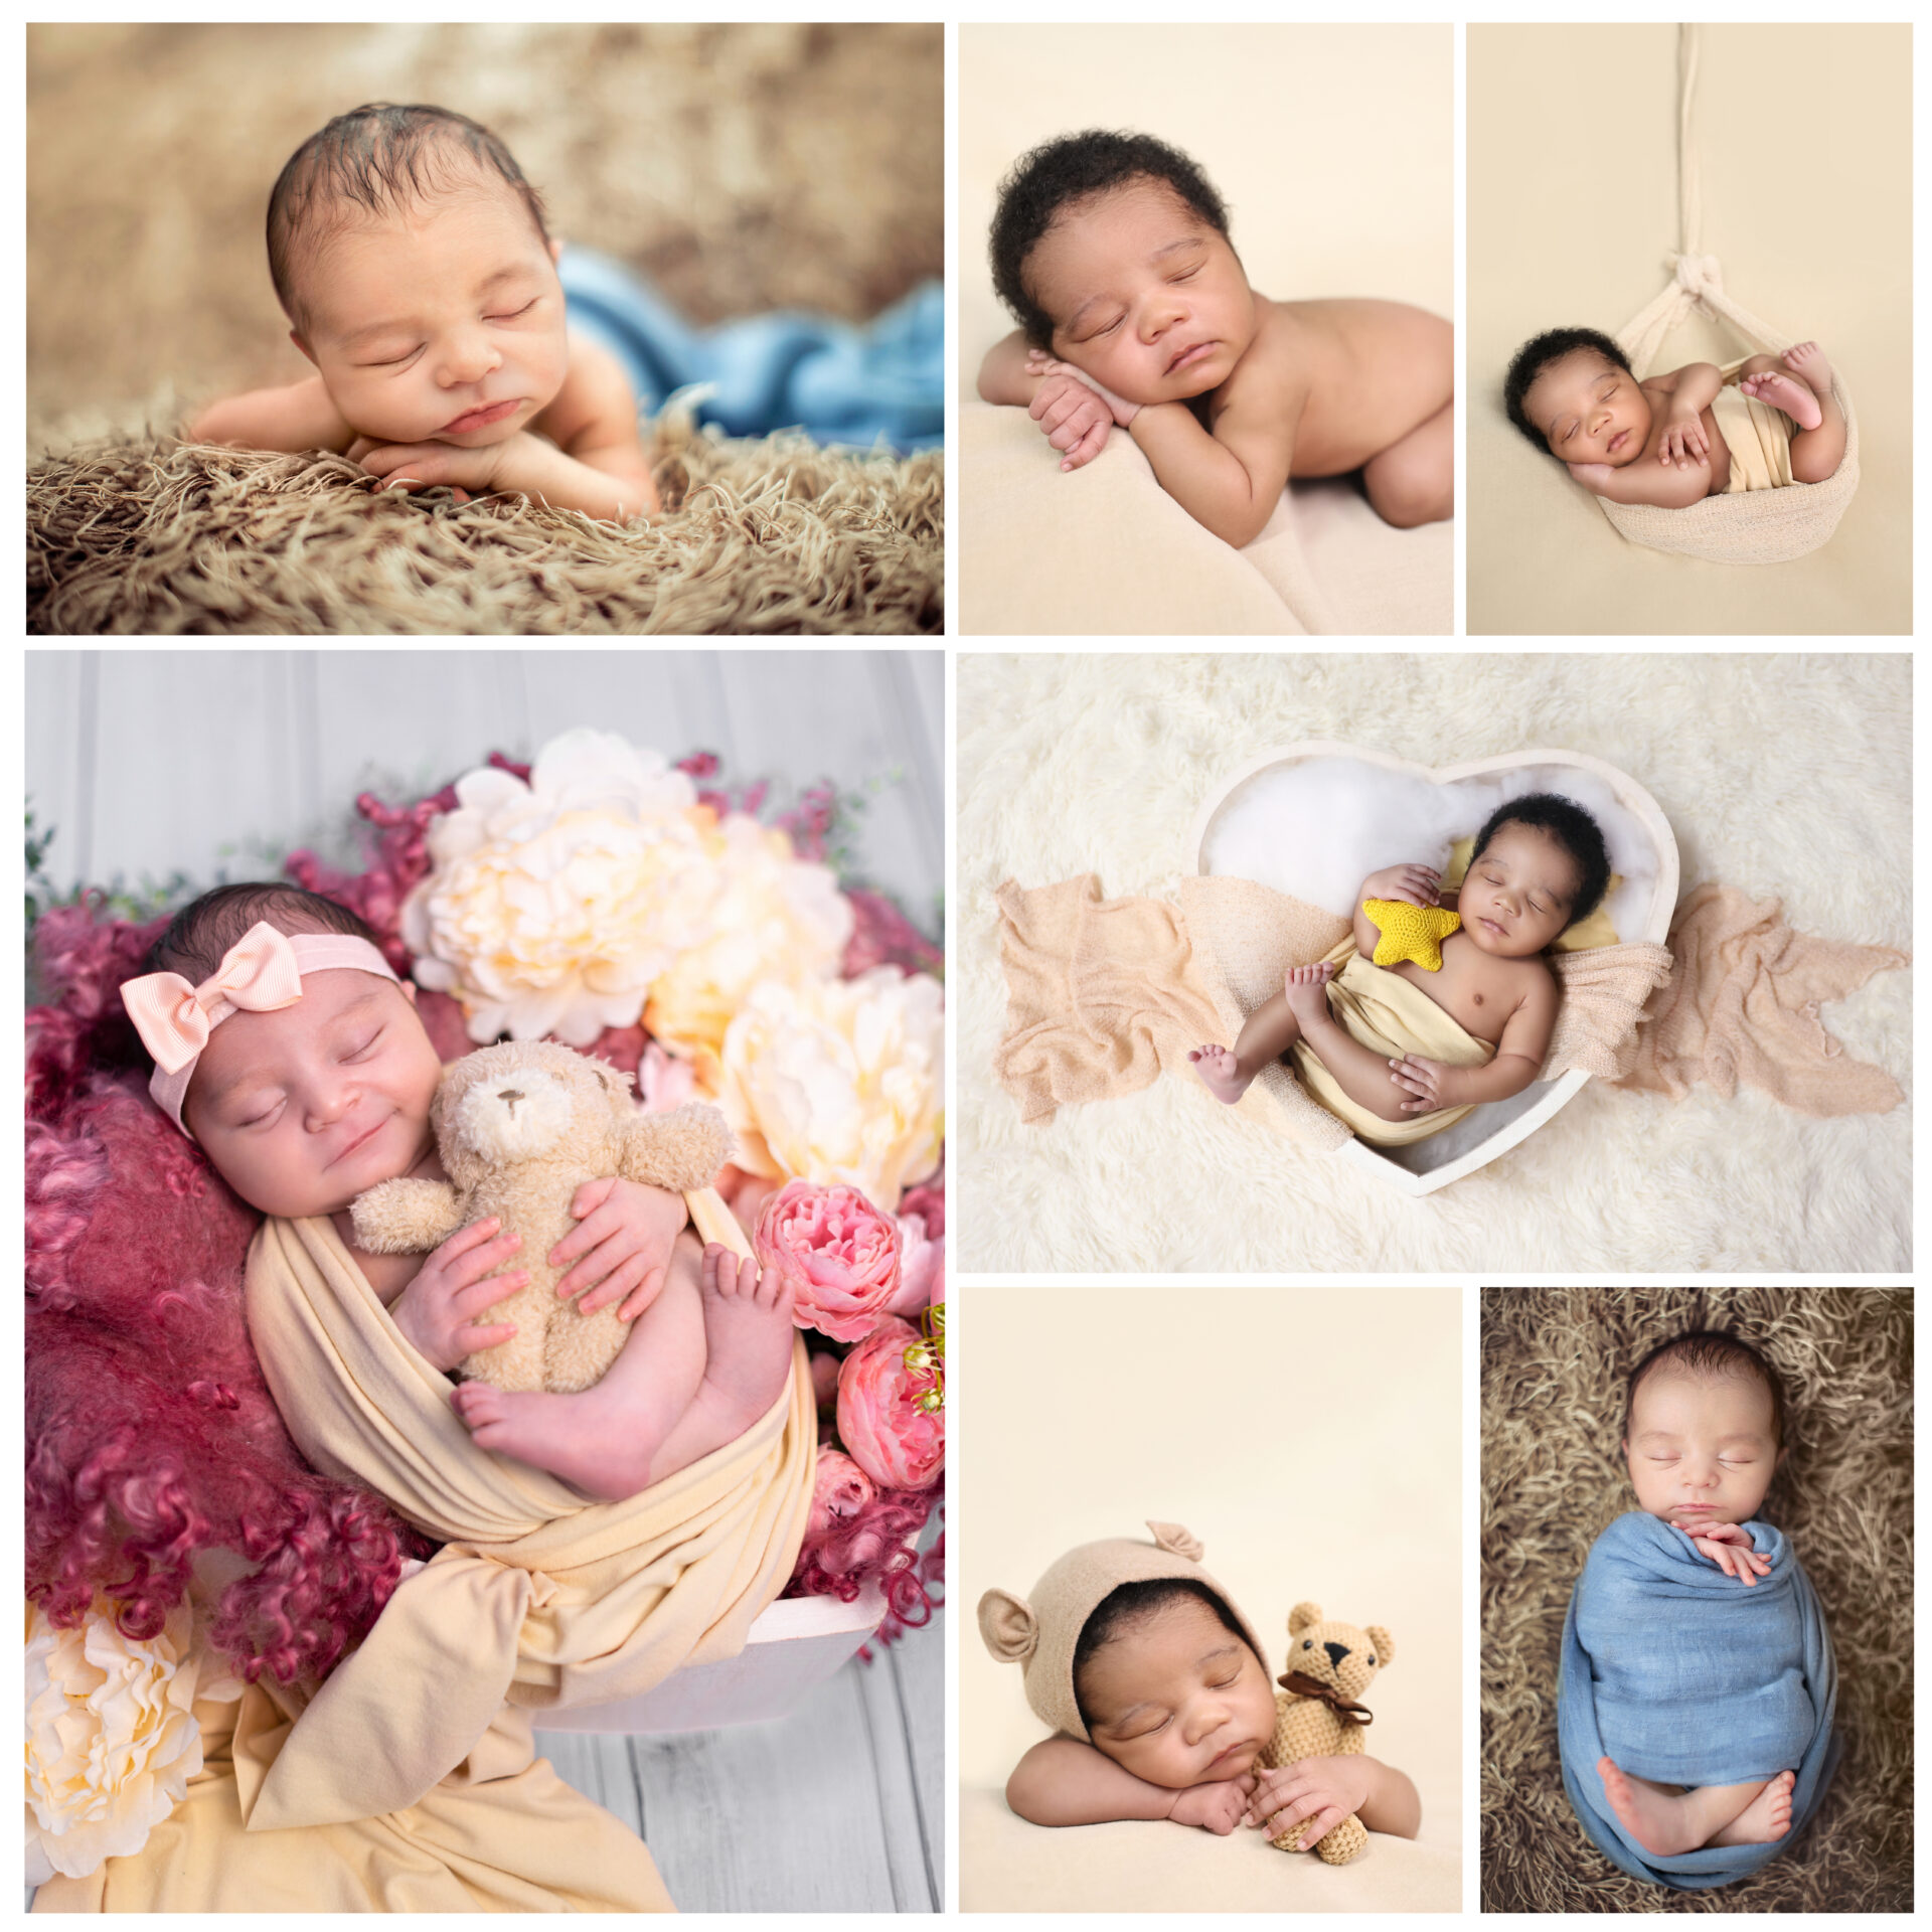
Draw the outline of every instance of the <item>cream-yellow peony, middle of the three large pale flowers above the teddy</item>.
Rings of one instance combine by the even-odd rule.
[[[838,970],[852,937],[852,904],[825,866],[794,856],[792,840],[744,813],[703,840],[711,860],[711,937],[686,947],[651,983],[643,1024],[719,1088],[724,1030],[765,980],[817,980]]]

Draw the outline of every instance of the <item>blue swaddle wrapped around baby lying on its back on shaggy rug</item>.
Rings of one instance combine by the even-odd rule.
[[[1563,1789],[1598,1851],[1633,1878],[1704,1891],[1777,1857],[1837,1762],[1837,1663],[1818,1592],[1785,1538],[1747,1522],[1770,1559],[1725,1577],[1690,1538],[1631,1511],[1590,1546],[1563,1623],[1557,1741]],[[1791,1830],[1772,1845],[1660,1859],[1619,1824],[1598,1758],[1662,1785],[1739,1785],[1797,1772]]]

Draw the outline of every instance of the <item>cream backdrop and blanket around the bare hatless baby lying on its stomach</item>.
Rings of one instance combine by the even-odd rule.
[[[1236,556],[1167,498],[1151,502],[1128,437],[1063,475],[1041,460],[1039,431],[980,404],[974,383],[1012,328],[985,255],[999,182],[1030,147],[1082,128],[1155,133],[1194,155],[1264,294],[1383,296],[1453,315],[1453,31],[968,25],[958,83],[962,626],[1449,630],[1449,526],[1389,531],[1352,487],[1298,485],[1302,514],[1277,512]]]

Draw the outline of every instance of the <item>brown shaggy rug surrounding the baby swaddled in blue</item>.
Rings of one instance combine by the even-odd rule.
[[[1845,1756],[1762,1872],[1669,1891],[1584,1837],[1557,1770],[1557,1650],[1582,1559],[1629,1507],[1629,1370],[1690,1327],[1776,1364],[1789,1453],[1766,1501],[1837,1648]],[[1484,1289],[1482,1909],[1913,1909],[1913,1304],[1909,1289]]]

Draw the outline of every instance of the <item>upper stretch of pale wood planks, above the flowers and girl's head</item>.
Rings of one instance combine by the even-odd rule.
[[[27,651],[27,798],[60,885],[348,856],[359,790],[413,798],[574,724],[717,752],[786,804],[896,773],[858,821],[858,869],[937,933],[941,651]]]

